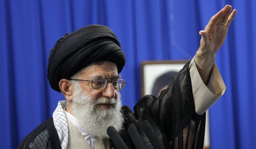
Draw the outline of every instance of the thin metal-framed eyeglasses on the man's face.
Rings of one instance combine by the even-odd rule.
[[[106,88],[107,83],[111,83],[115,91],[122,90],[126,83],[124,79],[114,79],[112,81],[107,81],[105,78],[97,78],[92,80],[81,80],[81,79],[69,79],[69,80],[91,82],[91,87],[94,89],[104,89]]]

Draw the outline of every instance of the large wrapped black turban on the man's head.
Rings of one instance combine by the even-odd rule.
[[[61,79],[70,79],[76,72],[95,61],[116,63],[118,73],[125,65],[125,54],[110,28],[88,25],[65,34],[50,51],[47,78],[52,89],[61,92]]]

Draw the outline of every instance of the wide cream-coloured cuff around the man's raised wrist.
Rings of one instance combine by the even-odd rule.
[[[195,112],[198,115],[202,115],[224,94],[226,86],[215,63],[212,68],[211,78],[207,85],[204,84],[199,75],[194,58],[190,62],[189,68]]]

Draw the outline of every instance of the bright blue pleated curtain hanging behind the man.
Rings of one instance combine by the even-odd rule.
[[[133,107],[141,97],[140,62],[192,59],[199,30],[225,4],[238,12],[216,56],[227,90],[210,108],[211,148],[254,148],[255,0],[1,0],[1,148],[16,148],[64,100],[46,74],[50,49],[66,32],[101,24],[116,33],[127,59],[123,105]]]

